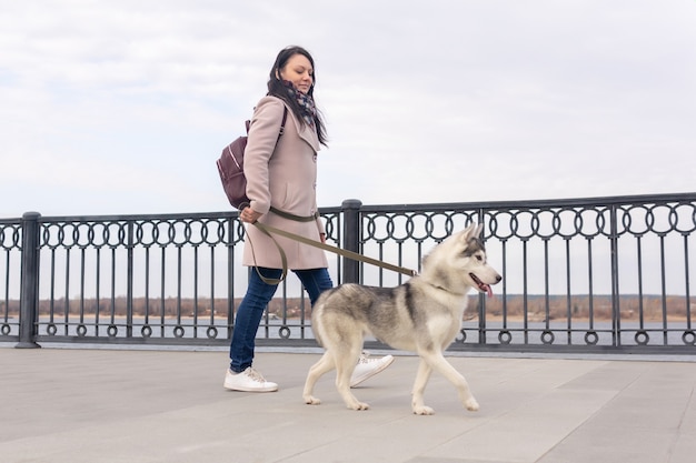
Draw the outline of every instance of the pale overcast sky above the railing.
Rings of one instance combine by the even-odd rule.
[[[696,191],[695,0],[0,0],[0,218],[230,209],[289,44],[320,207]]]

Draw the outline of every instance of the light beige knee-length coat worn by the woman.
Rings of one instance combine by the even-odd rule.
[[[247,195],[251,201],[251,209],[264,213],[259,222],[320,241],[319,233],[324,233],[320,219],[297,222],[269,212],[271,205],[301,217],[317,212],[319,139],[316,130],[301,125],[288,108],[285,132],[276,145],[285,107],[281,99],[265,97],[253,111],[245,150]],[[256,227],[247,224],[246,228],[248,238],[245,242],[243,265],[280,269],[280,253],[272,241]],[[286,252],[288,269],[328,266],[322,250],[284,236],[274,238]],[[249,241],[253,245],[253,254]]]

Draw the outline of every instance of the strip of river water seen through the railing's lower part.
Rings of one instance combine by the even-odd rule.
[[[266,319],[261,322],[257,339],[272,340],[302,340],[314,339],[314,332],[309,326],[309,321],[302,324],[299,319],[288,319],[284,323],[280,319]],[[17,319],[3,321],[0,325],[0,342],[3,339],[19,335],[19,322]],[[566,322],[528,322],[521,321],[487,321],[486,330],[479,333],[478,321],[467,321],[463,324],[464,335],[459,334],[458,342],[477,344],[485,336],[487,344],[509,344],[509,345],[597,345],[614,346],[615,333],[612,322],[595,322],[591,325],[588,321],[573,321],[570,326]],[[624,346],[648,345],[696,345],[696,333],[688,329],[685,321],[668,321],[666,325],[662,322],[646,322],[640,325],[637,321],[622,321],[620,335],[618,341]],[[161,319],[159,316],[149,318],[148,323],[143,316],[132,319],[130,335],[125,318],[102,316],[97,322],[95,316],[79,316],[64,319],[53,319],[41,316],[39,320],[39,335],[41,338],[99,338],[106,342],[109,339],[183,339],[208,341],[228,339],[227,320],[215,319],[212,322],[206,318],[175,318]],[[368,340],[372,340],[368,338]]]

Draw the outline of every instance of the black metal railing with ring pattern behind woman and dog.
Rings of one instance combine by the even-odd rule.
[[[401,266],[471,222],[503,274],[450,350],[696,353],[696,193],[320,211],[329,243]],[[0,342],[227,345],[248,270],[237,212],[0,220]],[[329,256],[335,282],[406,276]],[[281,283],[259,345],[316,345]],[[368,340],[368,346],[381,346]]]

